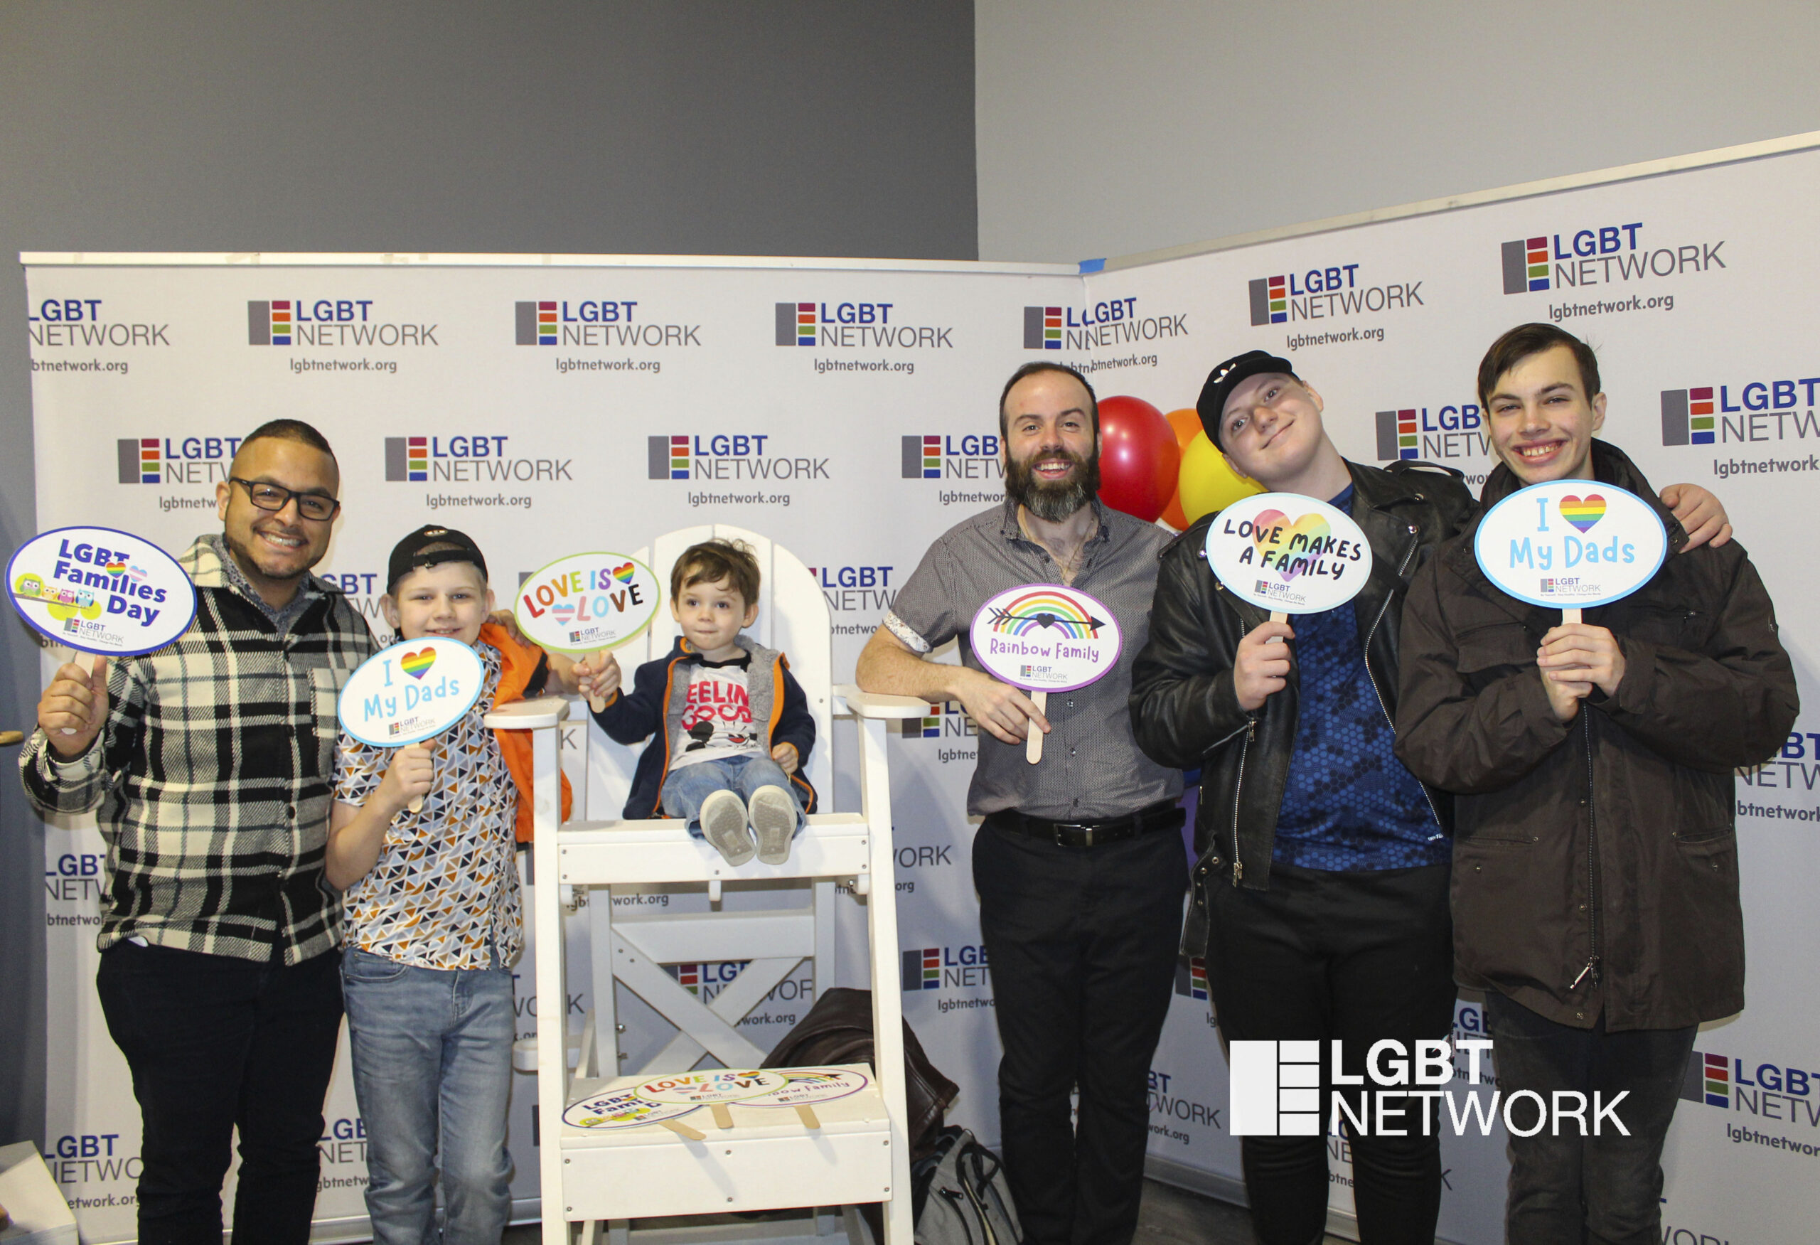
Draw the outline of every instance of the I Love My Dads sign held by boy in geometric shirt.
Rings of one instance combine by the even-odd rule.
[[[360,663],[342,686],[337,715],[360,743],[402,748],[459,723],[484,684],[486,666],[468,644],[420,635]]]

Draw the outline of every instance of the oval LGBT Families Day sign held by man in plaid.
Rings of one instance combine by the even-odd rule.
[[[197,617],[197,590],[169,553],[113,528],[56,528],[7,561],[13,608],[53,644],[124,657],[164,648]]]

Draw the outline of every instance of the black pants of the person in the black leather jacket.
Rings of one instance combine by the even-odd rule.
[[[1336,874],[1270,868],[1270,890],[1212,888],[1207,972],[1219,1032],[1232,1039],[1321,1043],[1321,1130],[1332,1119],[1330,1043],[1360,1074],[1374,1041],[1452,1032],[1452,921],[1447,866]],[[1360,1108],[1356,1090],[1349,1098]],[[1432,1103],[1431,1103],[1432,1105]],[[1438,1121],[1421,1136],[1350,1138],[1352,1199],[1363,1245],[1432,1245],[1441,1209]],[[1261,1245],[1320,1241],[1327,1223],[1329,1138],[1241,1138],[1245,1190]]]

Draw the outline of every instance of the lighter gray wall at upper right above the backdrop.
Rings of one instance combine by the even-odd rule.
[[[979,255],[1130,255],[1820,129],[1813,0],[979,0]]]

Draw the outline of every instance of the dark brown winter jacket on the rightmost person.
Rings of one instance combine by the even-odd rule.
[[[1454,976],[1542,1016],[1680,1028],[1744,1008],[1733,770],[1795,724],[1795,672],[1744,550],[1685,542],[1656,491],[1594,440],[1600,482],[1656,506],[1671,555],[1585,622],[1618,637],[1618,693],[1549,708],[1536,648],[1558,610],[1491,586],[1474,522],[1403,610],[1396,754],[1454,792]],[[1516,491],[1496,468],[1485,506]]]

